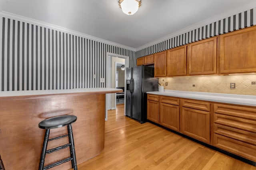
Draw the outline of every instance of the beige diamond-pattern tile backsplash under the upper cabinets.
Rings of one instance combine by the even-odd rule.
[[[159,78],[159,83],[168,90],[239,95],[256,95],[256,85],[252,85],[253,81],[256,81],[256,74]],[[166,82],[168,82],[167,86]],[[230,83],[236,83],[236,88],[230,89]]]

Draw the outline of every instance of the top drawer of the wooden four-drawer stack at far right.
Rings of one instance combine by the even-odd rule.
[[[214,103],[214,112],[256,121],[256,108]]]

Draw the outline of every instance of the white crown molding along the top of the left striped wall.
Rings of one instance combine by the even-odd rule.
[[[1,8],[0,8],[0,16],[5,17],[5,18],[10,18],[10,19],[13,19],[13,20],[19,20],[19,21],[22,21],[22,22],[27,22],[27,23],[34,24],[34,25],[37,25],[37,26],[50,28],[50,29],[53,29],[53,30],[61,31],[61,32],[65,32],[65,33],[72,34],[72,35],[75,35],[75,36],[88,38],[90,40],[106,43],[106,44],[109,44],[109,45],[114,45],[114,46],[121,47],[121,48],[124,48],[124,49],[129,49],[131,51],[136,50],[135,48],[128,47],[126,45],[122,45],[122,44],[119,44],[119,43],[110,42],[108,40],[104,40],[104,39],[101,39],[101,38],[90,36],[88,34],[83,34],[83,33],[76,32],[76,31],[73,31],[73,30],[70,30],[70,29],[67,29],[67,28],[63,28],[63,27],[56,26],[56,25],[53,25],[53,24],[48,24],[46,22],[34,20],[32,18],[27,18],[27,17],[24,17],[24,16],[12,14],[12,13],[9,13],[9,12],[4,12],[4,11],[1,10]]]

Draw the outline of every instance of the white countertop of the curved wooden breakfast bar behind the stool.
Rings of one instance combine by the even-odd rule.
[[[10,96],[30,96],[30,95],[53,95],[66,93],[99,93],[112,92],[121,89],[114,88],[81,88],[81,89],[62,89],[62,90],[26,90],[26,91],[0,91],[0,97]],[[115,93],[115,92],[113,92]]]

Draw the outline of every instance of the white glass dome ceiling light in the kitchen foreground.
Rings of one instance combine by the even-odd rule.
[[[124,14],[133,15],[138,11],[141,0],[119,0],[118,4]]]

